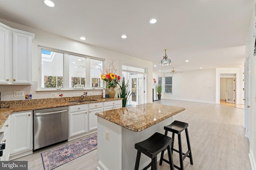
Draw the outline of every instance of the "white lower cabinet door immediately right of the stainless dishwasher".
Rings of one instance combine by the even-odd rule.
[[[69,113],[69,137],[88,131],[87,110]]]

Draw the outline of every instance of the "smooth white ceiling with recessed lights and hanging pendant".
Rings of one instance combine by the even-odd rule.
[[[255,0],[0,0],[0,18],[152,61],[153,71],[240,67]],[[150,24],[155,18],[157,22]],[[121,35],[128,37],[122,39]],[[80,40],[80,36],[86,40]],[[164,49],[171,66],[160,66]],[[185,60],[189,60],[188,63]]]

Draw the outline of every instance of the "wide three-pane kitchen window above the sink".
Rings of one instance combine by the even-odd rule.
[[[42,90],[46,88],[48,90],[56,90],[56,88],[65,90],[76,87],[103,87],[100,78],[103,59],[94,59],[93,57],[42,47],[39,49],[41,52],[40,88]]]

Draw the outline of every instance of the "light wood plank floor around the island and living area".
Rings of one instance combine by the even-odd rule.
[[[185,170],[251,170],[249,142],[244,132],[244,110],[219,104],[186,102],[162,99],[154,103],[185,107],[186,110],[174,115],[174,120],[189,124],[188,133],[194,165],[189,158],[184,160]],[[153,134],[154,132],[152,132]],[[174,147],[177,147],[177,136]],[[54,146],[57,147],[57,146]],[[43,170],[40,153],[53,147],[39,150],[18,158],[27,160],[28,170]],[[182,133],[182,148],[186,150],[186,135]],[[167,158],[167,155],[166,155]],[[136,157],[134,157],[135,161]],[[168,159],[168,158],[167,158]],[[178,153],[173,154],[174,164],[179,165]],[[96,170],[97,150],[76,158],[56,170]],[[168,170],[163,162],[158,170]]]

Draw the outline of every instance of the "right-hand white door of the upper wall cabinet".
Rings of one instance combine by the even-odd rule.
[[[32,36],[12,33],[12,83],[31,84]]]

